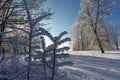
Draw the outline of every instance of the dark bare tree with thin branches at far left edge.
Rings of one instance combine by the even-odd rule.
[[[15,6],[12,6],[12,2],[13,0],[0,0],[0,50],[2,37],[7,27],[8,19],[12,16],[15,8]]]

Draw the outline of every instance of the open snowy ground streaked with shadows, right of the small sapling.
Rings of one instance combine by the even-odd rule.
[[[69,60],[73,65],[63,67],[69,80],[120,80],[120,54],[101,54],[99,51],[70,53]]]

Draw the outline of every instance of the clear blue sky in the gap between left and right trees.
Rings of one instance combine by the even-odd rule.
[[[50,32],[58,35],[62,31],[69,32],[78,15],[80,0],[47,0],[45,6],[55,12],[53,19],[46,21],[47,27],[52,27]]]

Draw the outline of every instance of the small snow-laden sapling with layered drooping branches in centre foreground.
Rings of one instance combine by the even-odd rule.
[[[68,54],[64,53],[64,51],[69,50],[69,47],[60,47],[61,44],[65,43],[66,41],[70,41],[70,39],[62,39],[62,37],[67,34],[66,31],[62,32],[56,37],[53,37],[48,31],[44,30],[43,28],[40,28],[40,32],[41,35],[47,36],[52,41],[52,44],[50,44],[48,47],[45,47],[45,39],[44,37],[40,37],[42,42],[41,44],[43,50],[43,63],[45,74],[51,80],[58,80],[66,75],[63,74],[63,71],[59,70],[59,67],[64,65],[72,65],[71,62],[64,62],[62,60],[63,58],[69,57]]]

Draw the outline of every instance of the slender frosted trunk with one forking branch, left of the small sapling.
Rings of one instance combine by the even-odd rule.
[[[26,10],[26,13],[27,13],[27,19],[28,19],[29,28],[30,28],[30,32],[29,32],[29,61],[28,61],[28,74],[27,74],[27,80],[30,80],[30,63],[31,63],[31,60],[32,60],[32,39],[33,39],[32,35],[33,35],[33,31],[35,29],[35,26],[41,20],[45,19],[46,17],[51,16],[52,13],[41,11],[42,12],[41,15],[34,19],[33,16],[31,15],[31,11],[30,11],[31,6],[29,6],[28,1],[23,0],[23,2],[24,2],[24,5],[25,5],[25,10]],[[33,8],[33,7],[31,7],[31,8]]]

